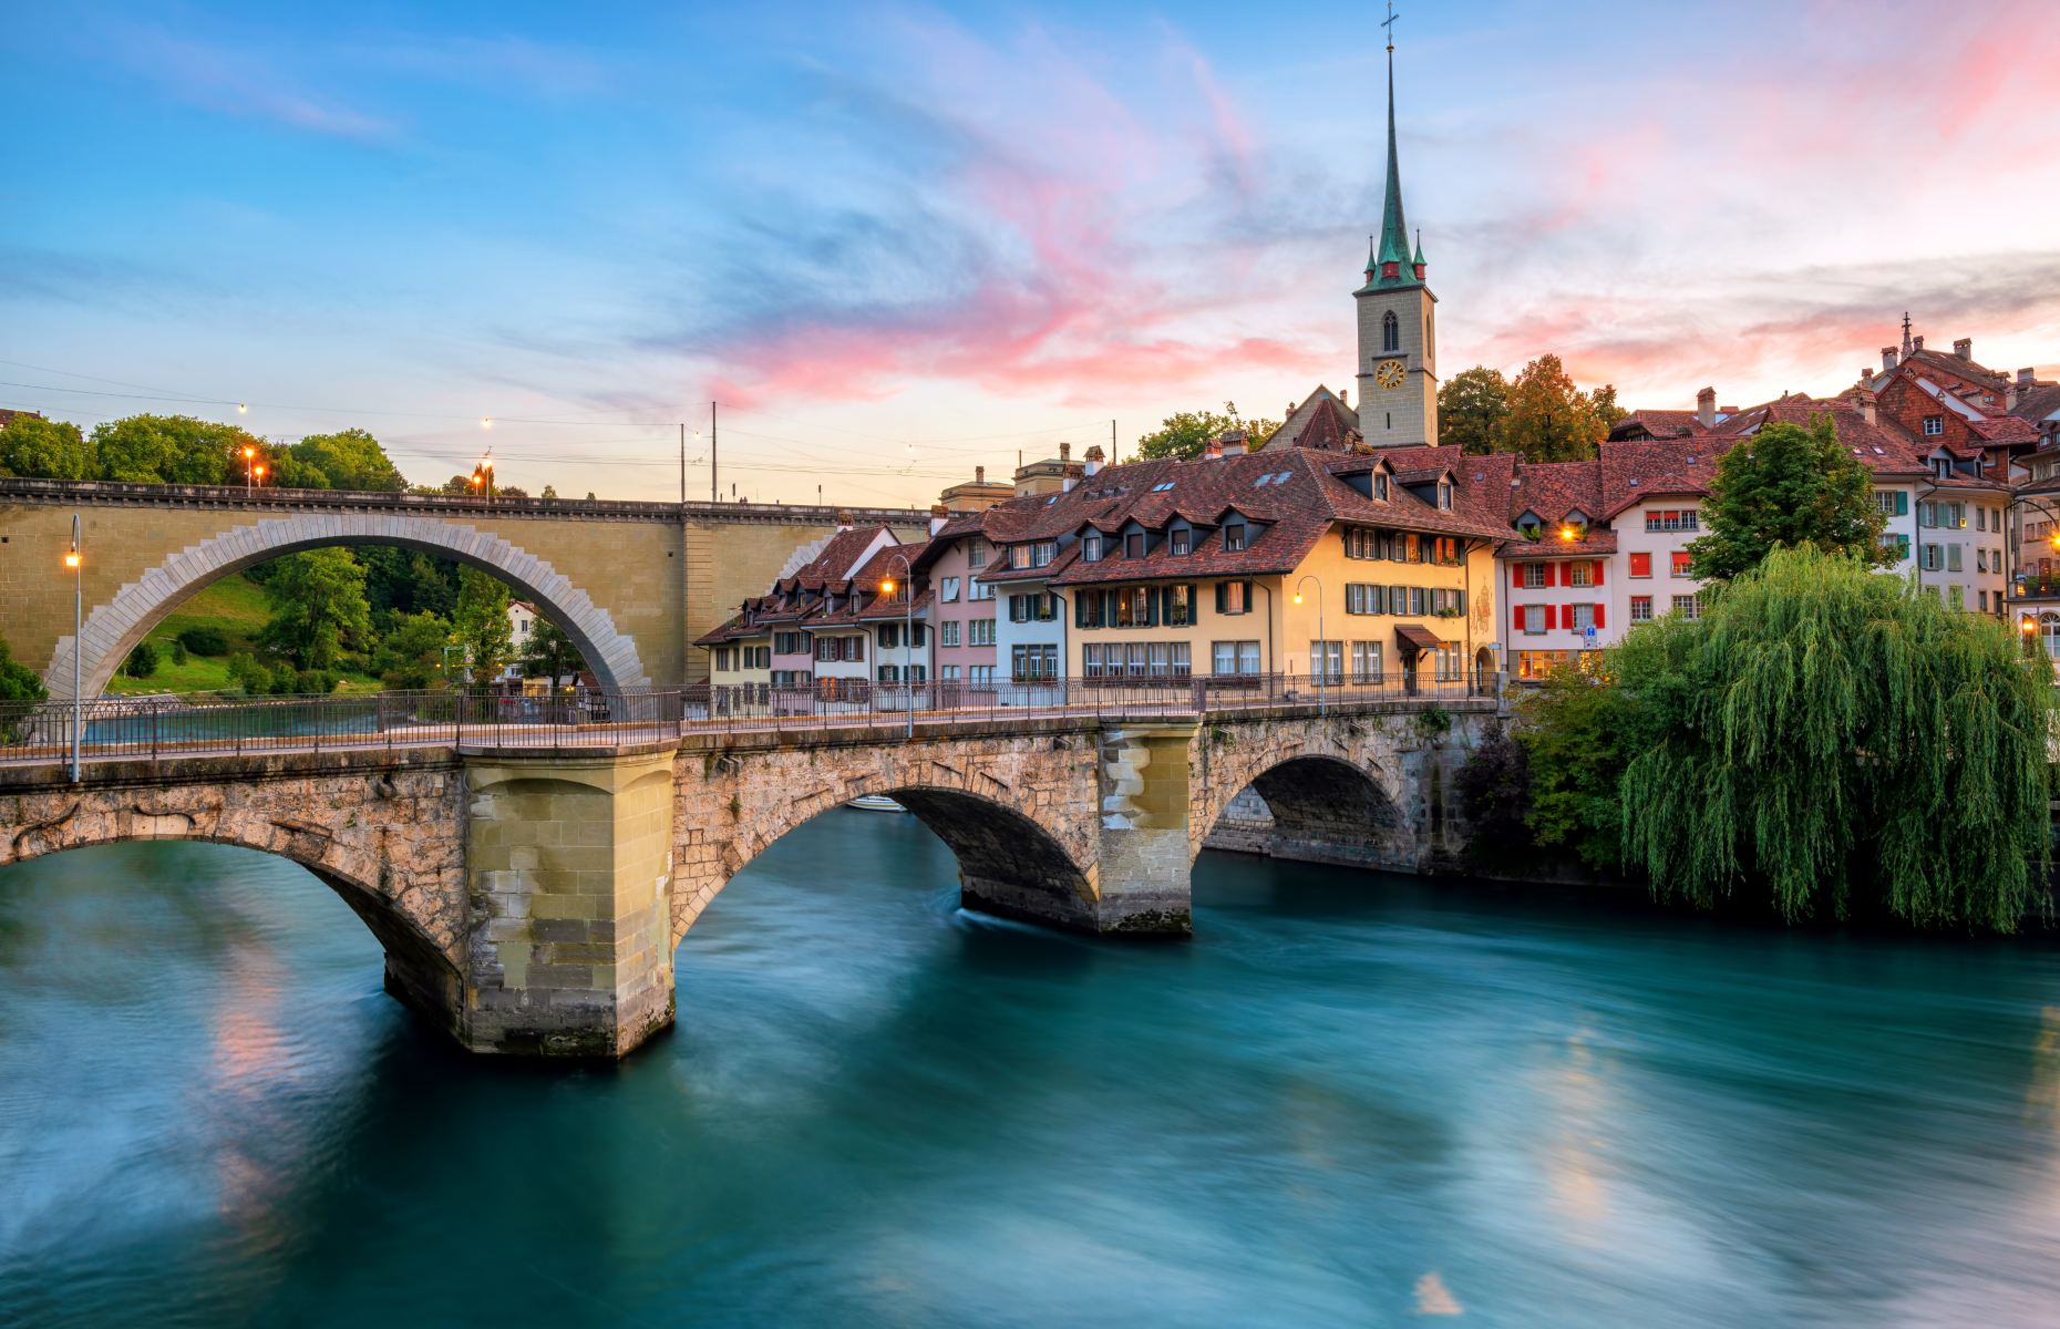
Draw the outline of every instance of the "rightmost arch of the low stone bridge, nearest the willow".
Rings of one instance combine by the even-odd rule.
[[[1242,847],[1283,859],[1415,870],[1401,754],[1388,748],[1382,727],[1349,719],[1238,727],[1209,750],[1197,781],[1189,861],[1220,824],[1236,820],[1232,804],[1250,791],[1271,824],[1242,828]]]

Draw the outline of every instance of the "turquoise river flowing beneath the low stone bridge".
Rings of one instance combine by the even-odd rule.
[[[8,1325],[2052,1325],[2060,952],[1203,855],[1191,944],[838,810],[620,1067],[282,859],[0,870]]]

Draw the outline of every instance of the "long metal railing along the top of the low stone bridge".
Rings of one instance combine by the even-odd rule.
[[[1022,682],[814,686],[692,684],[665,690],[371,692],[295,698],[99,698],[0,705],[0,760],[233,756],[507,746],[610,748],[684,734],[880,729],[1009,719],[1199,719],[1222,713],[1491,696],[1494,680],[1415,674],[1316,680],[1308,674],[1197,678],[1053,678]]]

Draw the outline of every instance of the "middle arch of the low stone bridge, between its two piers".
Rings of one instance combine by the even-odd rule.
[[[824,812],[865,795],[892,797],[946,843],[958,859],[960,898],[966,907],[1034,923],[1096,929],[1096,874],[1082,867],[1094,861],[1094,849],[1082,841],[1084,828],[1077,818],[1069,824],[1049,814],[1040,818],[1034,799],[1024,799],[1005,787],[974,787],[972,779],[935,769],[927,760],[908,762],[931,766],[927,771],[902,769],[904,760],[900,752],[888,754],[880,769],[826,785],[818,779],[820,787],[810,793],[766,799],[754,808],[742,806],[735,793],[727,795],[737,799],[727,808],[709,808],[725,787],[733,789],[729,779],[735,775],[725,779],[717,773],[715,797],[682,793],[682,826],[694,826],[696,818],[711,816],[735,826],[727,832],[709,828],[694,837],[696,843],[690,845],[674,888],[674,946],[686,938],[709,902],[766,847]],[[696,783],[705,781],[696,781],[694,775],[682,777],[682,787]]]

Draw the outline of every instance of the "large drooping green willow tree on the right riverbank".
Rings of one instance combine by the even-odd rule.
[[[1656,894],[1996,931],[2033,911],[2054,684],[1996,620],[1776,548],[1613,668],[1652,721],[1621,797],[1623,857]]]

